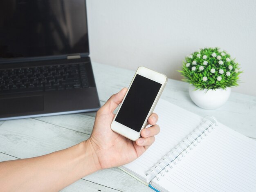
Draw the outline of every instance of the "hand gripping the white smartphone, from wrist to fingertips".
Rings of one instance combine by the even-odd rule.
[[[92,135],[85,141],[90,145],[94,160],[99,163],[98,169],[116,167],[130,163],[143,154],[148,147],[155,141],[155,135],[160,128],[157,122],[157,114],[152,114],[148,118],[148,124],[152,125],[141,131],[141,138],[137,141],[113,132],[110,128],[115,114],[114,110],[123,100],[127,88],[119,93],[112,95],[96,114]],[[132,121],[132,119],[131,119]]]

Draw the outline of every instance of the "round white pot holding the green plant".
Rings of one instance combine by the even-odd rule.
[[[231,88],[224,89],[203,89],[195,90],[194,86],[189,87],[189,95],[193,102],[203,109],[217,109],[222,106],[228,100],[231,92]]]

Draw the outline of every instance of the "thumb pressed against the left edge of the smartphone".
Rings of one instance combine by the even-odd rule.
[[[112,95],[107,102],[101,107],[104,110],[108,110],[109,112],[113,113],[117,106],[122,102],[124,96],[127,92],[127,88],[123,88],[117,94]]]

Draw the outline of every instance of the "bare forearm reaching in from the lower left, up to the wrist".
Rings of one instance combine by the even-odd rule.
[[[3,191],[58,191],[99,170],[88,141],[44,156],[0,163]]]

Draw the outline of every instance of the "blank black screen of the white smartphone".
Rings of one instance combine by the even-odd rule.
[[[139,132],[161,86],[137,74],[115,121]]]

